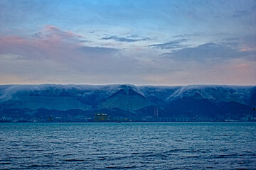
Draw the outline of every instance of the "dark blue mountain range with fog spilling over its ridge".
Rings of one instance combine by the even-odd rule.
[[[253,121],[254,108],[256,86],[0,86],[1,121]]]

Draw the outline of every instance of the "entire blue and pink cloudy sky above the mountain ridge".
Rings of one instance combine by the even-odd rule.
[[[256,1],[0,0],[0,84],[256,85]]]

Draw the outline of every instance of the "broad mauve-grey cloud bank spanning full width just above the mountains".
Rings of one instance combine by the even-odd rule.
[[[256,81],[255,62],[241,58],[251,51],[241,52],[225,44],[187,47],[160,58],[148,57],[149,51],[140,58],[136,52],[129,55],[114,47],[85,46],[76,38],[70,39],[69,34],[54,33],[43,38],[1,35],[0,83],[178,85]],[[208,60],[213,62],[202,62]]]

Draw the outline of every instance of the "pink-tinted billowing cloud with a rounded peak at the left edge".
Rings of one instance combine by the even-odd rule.
[[[0,35],[0,54],[18,54],[23,59],[62,58],[82,46],[81,35],[60,30],[55,26],[46,26],[33,37]],[[58,60],[60,62],[60,60]]]

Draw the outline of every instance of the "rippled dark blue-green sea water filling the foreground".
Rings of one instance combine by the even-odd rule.
[[[256,123],[0,123],[0,169],[256,169]]]

